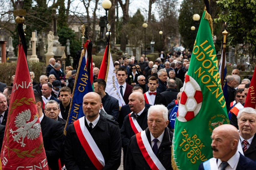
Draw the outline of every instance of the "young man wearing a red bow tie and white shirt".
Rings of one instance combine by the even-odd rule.
[[[149,90],[144,93],[145,103],[156,105],[163,104],[166,105],[166,101],[163,95],[157,92],[158,79],[154,76],[148,79],[148,88]]]

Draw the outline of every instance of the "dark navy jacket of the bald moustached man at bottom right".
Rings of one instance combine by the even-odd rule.
[[[250,148],[250,147],[249,147]],[[239,153],[240,154],[240,153]],[[240,154],[236,170],[255,170],[256,162]],[[198,170],[204,170],[203,163],[200,164]]]

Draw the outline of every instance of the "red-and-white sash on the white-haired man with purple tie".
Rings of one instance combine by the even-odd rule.
[[[152,170],[165,170],[164,166],[154,154],[151,145],[148,142],[145,130],[136,134],[139,149]]]

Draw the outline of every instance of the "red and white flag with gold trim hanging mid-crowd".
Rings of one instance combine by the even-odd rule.
[[[107,51],[108,51],[108,45],[105,49],[105,53],[100,66],[98,78],[102,78],[103,80],[106,81],[107,86],[106,86],[105,92],[107,92],[108,95],[111,95],[112,97],[116,98],[119,102],[119,107],[122,107],[123,105],[125,105],[125,102],[122,96],[119,94],[117,77],[114,69],[112,56],[110,53],[110,45],[109,45],[109,52]]]

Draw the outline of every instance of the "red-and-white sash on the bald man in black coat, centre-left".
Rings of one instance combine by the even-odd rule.
[[[84,148],[84,151],[92,161],[93,165],[98,170],[101,170],[105,166],[105,160],[101,151],[93,140],[93,137],[84,125],[84,119],[85,116],[74,122],[75,131],[77,133],[79,141]]]

